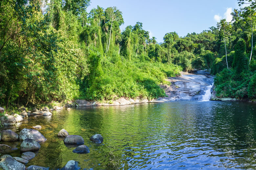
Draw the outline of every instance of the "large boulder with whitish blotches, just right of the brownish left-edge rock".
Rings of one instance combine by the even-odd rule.
[[[22,129],[19,134],[19,140],[33,139],[36,142],[45,142],[47,139],[37,130],[34,129]]]

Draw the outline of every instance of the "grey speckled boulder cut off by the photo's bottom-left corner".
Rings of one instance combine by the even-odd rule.
[[[13,158],[5,158],[0,162],[0,168],[3,170],[25,170],[26,166]]]

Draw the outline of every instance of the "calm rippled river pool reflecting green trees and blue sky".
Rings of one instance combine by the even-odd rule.
[[[256,105],[174,101],[112,107],[79,107],[29,117],[13,130],[41,125],[48,140],[28,164],[58,169],[70,160],[94,170],[256,169]],[[89,154],[75,154],[62,128],[80,135]],[[99,133],[102,144],[89,138]],[[1,142],[1,144],[4,144]],[[5,143],[20,147],[20,142]],[[11,156],[21,156],[16,150]]]

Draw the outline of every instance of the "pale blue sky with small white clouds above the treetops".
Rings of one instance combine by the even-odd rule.
[[[216,26],[221,19],[232,20],[230,13],[239,9],[237,0],[91,0],[87,8],[97,8],[97,5],[106,9],[117,7],[122,12],[125,29],[136,22],[143,24],[143,29],[149,35],[163,42],[163,36],[168,32],[176,31],[180,37],[188,33],[200,33]]]

